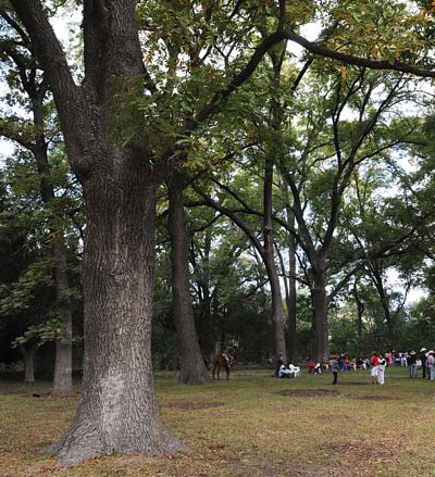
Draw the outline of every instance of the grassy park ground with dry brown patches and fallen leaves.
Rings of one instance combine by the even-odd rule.
[[[200,387],[159,374],[163,419],[190,451],[178,455],[111,456],[60,468],[40,449],[74,415],[77,398],[50,399],[0,382],[0,476],[435,476],[435,382],[386,371],[302,374],[235,369],[231,381]],[[39,392],[41,398],[33,398]]]

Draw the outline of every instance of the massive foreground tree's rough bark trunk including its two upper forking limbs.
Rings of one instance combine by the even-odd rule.
[[[75,85],[37,0],[12,0],[29,33],[59,112],[69,159],[83,185],[87,230],[83,266],[83,393],[72,427],[50,451],[62,463],[113,453],[175,452],[163,426],[151,365],[156,190],[141,136],[122,148],[113,93],[142,91],[135,2],[84,2],[84,86]],[[128,97],[128,93],[126,95]],[[141,124],[130,111],[132,124]]]

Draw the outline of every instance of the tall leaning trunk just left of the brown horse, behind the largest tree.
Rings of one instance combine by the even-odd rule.
[[[191,305],[188,242],[183,206],[184,188],[183,174],[174,172],[169,181],[172,305],[181,354],[179,381],[199,385],[209,382],[211,378],[199,347]]]

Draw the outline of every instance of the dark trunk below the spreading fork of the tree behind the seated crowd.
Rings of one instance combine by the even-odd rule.
[[[315,357],[320,362],[327,362],[330,340],[327,327],[326,269],[325,261],[322,258],[318,258],[315,266],[313,266],[313,285]]]

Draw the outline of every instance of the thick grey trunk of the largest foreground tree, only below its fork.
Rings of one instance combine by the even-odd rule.
[[[182,448],[162,425],[152,376],[156,184],[140,158],[116,162],[84,187],[84,382],[76,419],[54,449],[63,463]]]

